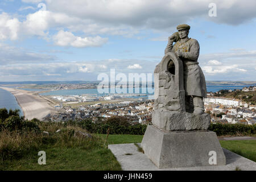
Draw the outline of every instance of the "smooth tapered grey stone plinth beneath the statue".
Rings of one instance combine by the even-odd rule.
[[[149,125],[141,147],[160,169],[226,164],[224,152],[213,131],[167,132]]]

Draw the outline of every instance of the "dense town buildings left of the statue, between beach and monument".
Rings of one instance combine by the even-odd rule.
[[[64,98],[64,101],[67,101],[64,96],[52,96],[52,98],[55,100]],[[122,99],[123,97],[120,96],[106,96],[90,99],[89,101],[97,101],[97,103],[93,102],[92,105],[87,105],[84,101],[79,102],[78,106],[73,106],[70,101],[74,101],[75,98],[77,97],[69,96],[69,105],[60,101],[60,104],[55,105],[55,109],[59,111],[54,115],[48,114],[43,119],[45,121],[69,121],[92,118],[92,121],[97,121],[98,118],[123,116],[133,122],[148,124],[151,121],[151,114],[154,109],[154,100],[148,99],[148,97]],[[73,104],[77,104],[77,102],[73,102]]]

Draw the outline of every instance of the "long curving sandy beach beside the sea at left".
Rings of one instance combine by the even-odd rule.
[[[37,118],[42,120],[46,115],[55,113],[55,109],[48,104],[47,100],[33,94],[31,91],[7,87],[0,88],[9,91],[15,96],[19,106],[22,108],[25,119]]]

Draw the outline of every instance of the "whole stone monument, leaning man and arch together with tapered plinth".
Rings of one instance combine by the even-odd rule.
[[[207,89],[197,62],[199,43],[188,38],[189,28],[177,26],[154,71],[152,125],[147,126],[141,147],[158,168],[210,166],[210,151],[217,154],[216,165],[226,163],[216,133],[208,131],[210,115],[204,113],[203,102]]]

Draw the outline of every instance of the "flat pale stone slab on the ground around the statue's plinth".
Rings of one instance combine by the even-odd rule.
[[[141,146],[141,143],[137,143]],[[256,163],[246,159],[241,155],[222,148],[226,157],[225,166],[196,166],[180,168],[159,169],[134,143],[109,144],[109,150],[112,151],[123,171],[256,171]]]

